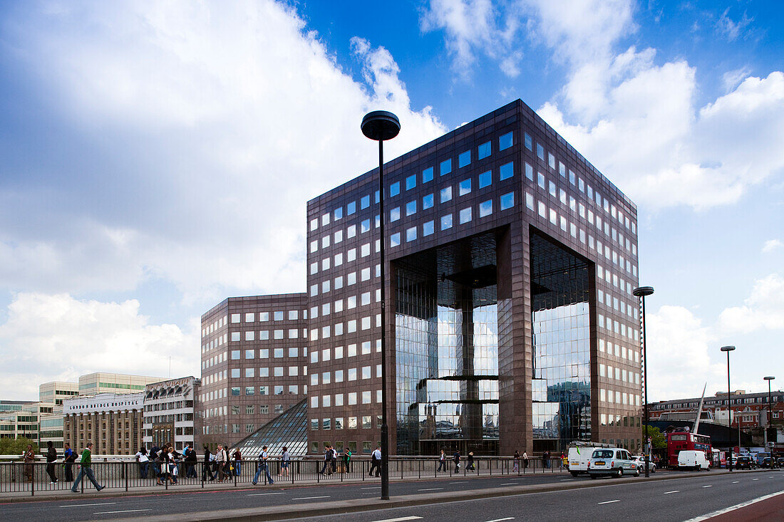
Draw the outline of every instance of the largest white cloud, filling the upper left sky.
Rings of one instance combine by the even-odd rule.
[[[29,2],[15,16],[5,59],[45,93],[32,111],[79,147],[9,161],[26,170],[0,181],[5,288],[84,295],[158,277],[208,302],[301,290],[307,199],[376,164],[363,114],[401,119],[387,158],[445,132],[410,107],[386,49],[354,39],[354,82],[269,0]]]

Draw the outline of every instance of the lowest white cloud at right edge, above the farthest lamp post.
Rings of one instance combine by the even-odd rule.
[[[732,306],[719,317],[725,332],[784,329],[784,277],[770,274],[754,282],[743,306]]]

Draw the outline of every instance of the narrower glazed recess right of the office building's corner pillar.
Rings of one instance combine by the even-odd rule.
[[[590,440],[589,262],[532,230],[534,451]]]

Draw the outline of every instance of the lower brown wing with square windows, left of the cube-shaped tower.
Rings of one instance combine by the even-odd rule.
[[[201,316],[198,417],[234,444],[307,394],[307,295],[232,297]]]

